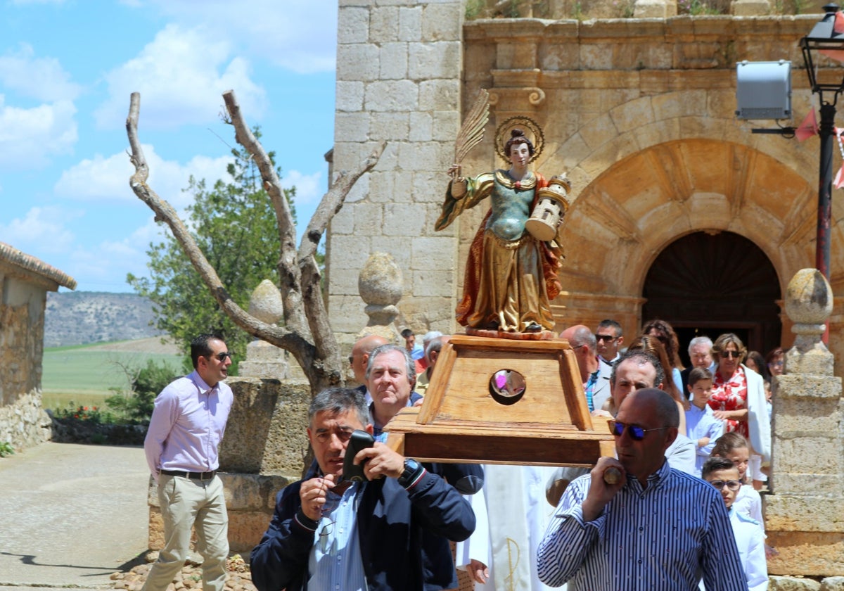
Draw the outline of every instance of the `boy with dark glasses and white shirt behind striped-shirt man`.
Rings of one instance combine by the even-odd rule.
[[[765,534],[760,523],[743,513],[733,510],[733,502],[741,489],[738,468],[727,458],[713,457],[706,460],[702,470],[703,480],[721,492],[724,504],[730,514],[733,537],[738,547],[738,556],[744,568],[744,576],[750,591],[764,591],[768,588],[768,567],[765,559]]]

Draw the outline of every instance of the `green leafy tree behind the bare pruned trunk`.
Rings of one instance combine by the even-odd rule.
[[[260,137],[257,128],[254,133]],[[235,160],[228,165],[228,182],[219,180],[208,190],[204,179],[191,176],[185,191],[193,194],[194,203],[187,207],[187,225],[232,299],[246,308],[252,290],[263,279],[279,283],[279,230],[254,160],[244,149],[232,149],[231,154]],[[273,156],[270,152],[271,160]],[[295,187],[284,189],[284,195],[295,219]],[[170,334],[186,355],[194,336],[219,333],[235,353],[230,373],[236,375],[252,336],[220,308],[169,233],[165,241],[150,243],[147,255],[149,279],[128,274],[127,282],[153,302],[156,328]],[[186,364],[190,366],[189,358]]]

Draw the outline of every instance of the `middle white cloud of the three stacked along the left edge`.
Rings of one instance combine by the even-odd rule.
[[[0,169],[31,169],[46,165],[50,155],[68,154],[78,139],[69,100],[21,108],[6,105],[0,95]]]

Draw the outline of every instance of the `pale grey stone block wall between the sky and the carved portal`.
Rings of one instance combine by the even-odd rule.
[[[372,252],[402,268],[399,323],[452,330],[455,230],[435,233],[434,223],[461,122],[462,26],[460,0],[339,2],[333,170],[353,168],[382,141],[387,148],[329,229],[335,332],[367,323],[357,281]]]

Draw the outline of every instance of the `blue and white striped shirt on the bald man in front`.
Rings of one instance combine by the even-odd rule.
[[[670,468],[636,478],[595,520],[582,502],[591,475],[565,491],[538,549],[540,580],[569,591],[746,591],[727,508],[703,480]]]

